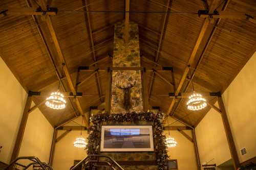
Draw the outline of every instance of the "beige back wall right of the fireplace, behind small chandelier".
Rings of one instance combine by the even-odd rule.
[[[169,125],[184,126],[172,118],[169,118]],[[168,131],[164,132],[168,135]],[[192,131],[185,130],[184,132],[192,138]],[[177,159],[179,170],[197,170],[194,144],[178,131],[170,131],[170,136],[174,137],[178,144],[177,147],[168,149],[169,159]]]

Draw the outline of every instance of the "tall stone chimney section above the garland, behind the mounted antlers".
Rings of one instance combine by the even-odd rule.
[[[115,24],[114,33],[114,67],[140,67],[139,29],[136,23],[130,22],[129,42],[125,43],[124,21]],[[123,90],[116,87],[116,84],[127,86],[135,84],[131,88],[131,108],[125,110],[123,107]],[[112,100],[111,114],[140,112],[143,110],[141,94],[141,72],[133,70],[114,70],[112,72]]]

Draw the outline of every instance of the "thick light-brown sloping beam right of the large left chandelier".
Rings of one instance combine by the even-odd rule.
[[[58,42],[58,39],[57,39],[56,32],[55,32],[55,30],[53,28],[52,20],[51,20],[51,18],[49,16],[46,16],[46,22],[47,22],[47,26],[49,28],[49,31],[50,31],[53,43],[55,45],[55,48],[56,48],[56,51],[57,51],[57,54],[58,54],[58,58],[59,58],[59,60],[62,63],[65,64],[65,65],[63,65],[63,70],[64,70],[65,75],[67,77],[67,81],[68,81],[69,87],[70,87],[71,91],[73,92],[73,94],[76,95],[75,86],[74,86],[74,84],[72,82],[72,78],[70,76],[70,72],[69,72],[68,66],[66,64],[65,57],[62,54],[62,51],[61,51],[61,48],[60,48],[60,45],[59,45],[59,42]],[[83,115],[84,113],[83,113],[81,104],[80,104],[80,102],[79,102],[79,100],[77,98],[75,99],[75,103],[76,103],[76,106],[78,108],[79,113],[81,115]],[[87,126],[89,126],[89,125],[87,125]]]

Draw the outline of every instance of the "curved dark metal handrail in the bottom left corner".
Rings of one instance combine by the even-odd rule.
[[[32,161],[32,163],[28,164],[28,165],[23,165],[21,163],[17,163],[18,160],[20,159],[28,159],[30,161]],[[7,167],[4,168],[4,170],[7,170],[9,169],[13,164],[17,164],[19,166],[22,166],[24,167],[24,170],[27,169],[29,166],[31,165],[39,165],[40,167],[42,167],[42,169],[44,170],[48,170],[48,168],[50,170],[53,170],[52,167],[47,164],[47,163],[44,163],[44,162],[41,162],[37,157],[35,156],[22,156],[22,157],[17,157],[16,159],[14,159]]]

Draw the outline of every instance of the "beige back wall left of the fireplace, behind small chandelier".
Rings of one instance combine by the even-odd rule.
[[[81,124],[81,117],[74,120]],[[74,123],[69,123],[65,126],[79,126]],[[57,137],[65,131],[58,130]],[[81,160],[86,157],[86,150],[75,148],[73,143],[77,137],[80,136],[80,131],[71,131],[55,145],[55,152],[53,158],[54,170],[68,170],[74,164],[74,160]],[[82,136],[87,138],[87,131],[82,131]]]

